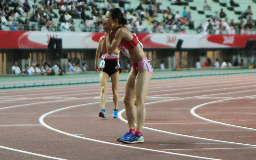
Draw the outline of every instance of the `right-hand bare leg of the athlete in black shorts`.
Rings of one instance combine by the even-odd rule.
[[[111,75],[111,82],[112,82],[112,92],[113,92],[113,101],[115,108],[118,109],[118,103],[119,103],[119,94],[117,92],[118,84],[119,84],[119,74],[120,72],[116,72],[113,75]]]

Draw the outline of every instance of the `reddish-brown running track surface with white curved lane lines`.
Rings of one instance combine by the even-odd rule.
[[[120,118],[100,118],[100,84],[0,92],[0,159],[256,159],[256,75],[151,80],[144,143],[123,144]]]

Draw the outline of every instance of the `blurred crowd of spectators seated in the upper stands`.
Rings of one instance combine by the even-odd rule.
[[[222,34],[226,30],[228,34],[241,34],[250,33],[256,27],[256,21],[252,19],[251,6],[248,6],[238,20],[230,20],[221,8],[220,11],[215,12],[215,15],[206,18],[204,24],[194,26],[191,12],[187,10],[189,6],[186,6],[188,2],[181,0],[169,0],[170,5],[164,10],[160,9],[163,5],[160,0],[140,0],[136,8],[132,8],[132,1],[127,0],[0,0],[0,2],[0,30],[103,32],[102,18],[111,7],[121,8],[129,21],[127,27],[136,33],[170,31],[185,33],[185,28],[189,28],[196,30],[197,33]],[[175,5],[184,5],[183,10],[175,10]],[[234,0],[230,0],[230,5],[239,7]],[[206,0],[203,8],[213,10]],[[75,21],[79,24],[75,24]]]

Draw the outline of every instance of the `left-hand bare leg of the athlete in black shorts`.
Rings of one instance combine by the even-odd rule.
[[[105,109],[107,102],[107,85],[108,85],[109,75],[106,72],[100,71],[100,105],[102,109]]]

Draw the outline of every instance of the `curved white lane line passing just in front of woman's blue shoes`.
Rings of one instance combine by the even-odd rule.
[[[112,100],[111,100],[111,101],[112,101]],[[108,101],[107,101],[107,102],[108,102]],[[68,136],[72,136],[72,137],[84,139],[84,140],[91,140],[91,141],[94,141],[94,142],[100,142],[100,143],[105,143],[105,144],[110,144],[110,145],[115,145],[115,146],[121,146],[121,147],[127,147],[127,148],[134,148],[134,149],[147,150],[147,151],[153,151],[153,152],[161,152],[161,153],[165,153],[165,154],[172,154],[172,155],[179,155],[179,156],[187,156],[187,157],[195,157],[195,158],[210,159],[210,160],[220,160],[220,159],[215,159],[215,158],[207,158],[207,157],[200,157],[200,156],[185,155],[185,154],[180,154],[180,153],[165,152],[165,151],[159,151],[159,150],[148,149],[148,148],[140,148],[140,147],[126,146],[126,145],[122,145],[122,144],[110,143],[110,142],[101,141],[101,140],[94,140],[94,139],[90,139],[90,138],[86,138],[86,137],[81,137],[81,136],[77,136],[77,135],[74,135],[74,134],[70,134],[70,133],[67,133],[67,132],[63,132],[63,131],[57,130],[57,129],[52,128],[51,126],[49,126],[49,125],[47,125],[47,124],[44,123],[44,117],[46,117],[46,116],[48,116],[48,115],[50,115],[50,114],[52,114],[52,113],[59,112],[59,111],[61,111],[61,110],[65,110],[65,109],[69,109],[69,108],[81,107],[81,106],[92,105],[92,104],[97,104],[97,103],[100,103],[100,102],[86,103],[86,104],[75,105],[75,106],[69,106],[69,107],[65,107],[65,108],[60,108],[60,109],[57,109],[57,110],[53,110],[53,111],[51,111],[51,112],[48,112],[48,113],[45,113],[44,115],[42,115],[42,116],[39,118],[39,122],[40,122],[42,125],[44,125],[46,128],[51,129],[51,130],[53,130],[53,131],[56,131],[56,132],[59,132],[59,133],[62,133],[62,134],[68,135]],[[118,116],[119,116],[119,114],[118,114]],[[120,116],[121,116],[121,115],[120,115]],[[120,116],[119,116],[119,117],[120,117]]]

